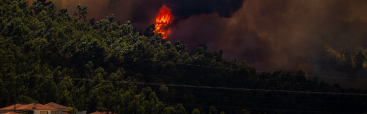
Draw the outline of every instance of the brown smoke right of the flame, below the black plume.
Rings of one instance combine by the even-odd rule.
[[[366,78],[326,62],[335,59],[331,48],[343,53],[367,46],[367,13],[362,12],[366,10],[366,2],[361,1],[247,0],[229,19],[190,17],[173,29],[169,39],[189,47],[206,43],[209,49],[223,49],[226,57],[237,56],[261,71],[302,69],[311,75]],[[325,45],[330,45],[329,51]],[[344,86],[365,85],[364,81],[323,79]]]

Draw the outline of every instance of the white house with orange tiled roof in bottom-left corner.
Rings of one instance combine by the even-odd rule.
[[[57,111],[57,108],[39,104],[39,103],[30,103],[30,104],[15,104],[16,111],[33,111],[34,114],[51,114],[51,111]],[[7,107],[0,108],[0,113],[11,112],[14,111],[14,105],[10,105]]]

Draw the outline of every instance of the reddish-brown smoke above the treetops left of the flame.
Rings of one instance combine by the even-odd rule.
[[[36,1],[36,0],[28,0]],[[77,5],[88,7],[87,20],[96,21],[110,14],[115,14],[114,21],[125,23],[131,21],[134,27],[144,30],[154,23],[154,18],[163,5],[163,0],[47,0],[56,3],[57,8],[67,8],[70,14],[76,11]]]

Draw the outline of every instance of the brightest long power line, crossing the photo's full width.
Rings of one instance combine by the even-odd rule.
[[[1,73],[6,75],[26,75],[33,77],[41,77],[43,75],[30,75],[30,74],[17,74],[17,73]],[[68,77],[56,77],[56,76],[43,76],[49,78],[68,78]],[[312,93],[312,94],[332,94],[332,95],[362,95],[363,93],[341,93],[341,92],[317,92],[317,91],[295,91],[295,90],[277,90],[277,89],[252,89],[252,88],[234,88],[234,87],[214,87],[214,86],[196,86],[196,85],[181,85],[181,84],[165,84],[165,83],[149,83],[149,82],[132,82],[132,81],[113,81],[113,80],[94,80],[85,78],[71,78],[72,80],[84,80],[84,81],[96,81],[96,82],[113,82],[113,83],[127,83],[127,84],[141,84],[141,85],[166,85],[175,87],[192,87],[192,88],[209,88],[209,89],[227,89],[227,90],[244,90],[244,91],[265,91],[265,92],[293,92],[293,93]]]

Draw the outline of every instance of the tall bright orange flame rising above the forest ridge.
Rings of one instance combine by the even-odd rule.
[[[162,34],[162,39],[166,39],[171,30],[168,28],[172,22],[171,9],[167,6],[162,6],[160,12],[155,18],[155,30],[154,33]]]

